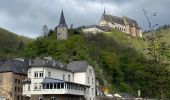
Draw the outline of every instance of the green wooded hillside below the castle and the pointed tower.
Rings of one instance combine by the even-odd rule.
[[[147,43],[142,38],[131,37],[113,29],[109,34],[84,36],[81,31],[69,30],[69,39],[58,41],[56,32],[39,37],[25,48],[25,56],[49,56],[68,63],[87,60],[94,66],[99,87],[107,87],[110,92],[126,92],[142,96],[148,95],[146,79],[145,49]],[[155,96],[150,90],[150,96]],[[167,95],[169,92],[167,92]]]

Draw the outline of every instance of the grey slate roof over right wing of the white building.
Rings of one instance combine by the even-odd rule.
[[[86,72],[88,63],[86,61],[72,61],[68,64],[68,67],[72,72]]]

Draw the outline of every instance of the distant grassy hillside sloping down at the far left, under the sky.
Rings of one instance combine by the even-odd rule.
[[[0,58],[22,56],[24,46],[31,41],[30,38],[0,28]]]

